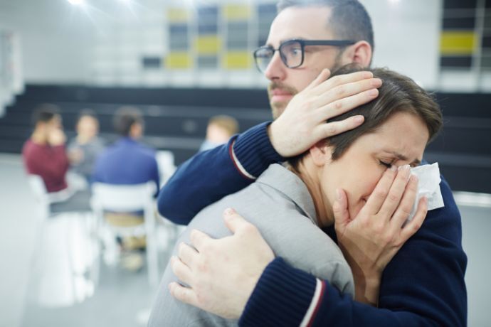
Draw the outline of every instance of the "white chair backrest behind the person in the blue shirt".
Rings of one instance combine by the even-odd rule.
[[[131,212],[152,207],[155,183],[135,185],[93,183],[93,208],[115,212]]]

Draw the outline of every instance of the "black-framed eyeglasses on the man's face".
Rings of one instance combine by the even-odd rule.
[[[356,41],[351,40],[301,40],[292,39],[280,44],[278,49],[271,45],[263,45],[254,51],[255,65],[261,73],[264,73],[271,62],[271,58],[275,55],[275,51],[280,52],[281,61],[287,68],[297,68],[303,63],[305,45],[331,45],[343,47],[352,45]]]

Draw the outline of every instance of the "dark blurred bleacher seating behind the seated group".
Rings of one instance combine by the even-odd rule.
[[[454,191],[491,193],[491,95],[437,93],[436,97],[445,127],[428,146],[426,159],[440,163]],[[68,138],[75,134],[80,109],[94,109],[101,135],[109,141],[117,138],[112,114],[122,105],[134,105],[144,113],[144,142],[172,151],[176,165],[199,149],[213,115],[235,117],[242,132],[271,119],[265,90],[27,85],[0,118],[0,152],[21,152],[31,133],[31,112],[45,102],[62,109]]]

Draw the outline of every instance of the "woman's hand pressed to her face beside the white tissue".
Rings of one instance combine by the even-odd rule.
[[[334,227],[344,257],[352,268],[357,301],[378,304],[381,274],[403,244],[416,233],[428,210],[421,198],[413,220],[406,222],[418,190],[409,166],[387,169],[357,217],[348,213],[347,195],[337,190]]]

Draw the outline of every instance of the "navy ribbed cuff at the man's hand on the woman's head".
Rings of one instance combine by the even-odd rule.
[[[248,178],[258,178],[270,164],[285,161],[271,144],[268,136],[269,124],[271,122],[265,122],[248,129],[233,144],[232,159],[238,170]]]

